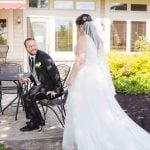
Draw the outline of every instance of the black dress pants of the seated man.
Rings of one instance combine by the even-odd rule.
[[[45,92],[46,87],[42,84],[33,86],[23,97],[24,107],[26,118],[30,119],[30,122],[37,125],[43,125],[44,119],[41,115],[41,112],[37,106],[35,95],[38,92]]]

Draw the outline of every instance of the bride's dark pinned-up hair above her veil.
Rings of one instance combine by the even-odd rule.
[[[76,19],[77,25],[83,25],[85,22],[93,21],[92,17],[89,14],[82,14]]]

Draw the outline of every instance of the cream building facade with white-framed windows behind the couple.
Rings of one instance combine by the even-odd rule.
[[[134,52],[139,36],[150,41],[149,0],[0,0],[0,44],[10,47],[7,60],[26,68],[26,37],[56,61],[73,60],[75,19],[82,13],[104,31],[107,51]]]

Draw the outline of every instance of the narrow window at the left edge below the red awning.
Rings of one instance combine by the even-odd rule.
[[[0,19],[0,44],[5,45],[7,44],[8,38],[8,31],[7,31],[7,20]]]

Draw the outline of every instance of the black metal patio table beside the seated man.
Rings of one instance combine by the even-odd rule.
[[[18,99],[18,102],[17,102],[17,109],[16,109],[16,114],[15,114],[15,120],[17,120],[17,114],[18,114],[18,108],[19,108],[19,104],[20,104],[20,101],[21,101],[21,96],[22,96],[22,85],[21,83],[19,82],[19,74],[20,73],[0,73],[0,110],[2,112],[2,114],[4,113],[4,111],[12,104],[15,102],[15,100]],[[10,101],[9,104],[7,104],[4,108],[2,108],[2,85],[1,85],[1,81],[12,81],[15,83],[16,85],[16,89],[17,89],[17,92],[16,92],[16,97],[14,99],[12,99]],[[8,86],[9,88],[9,86]]]

